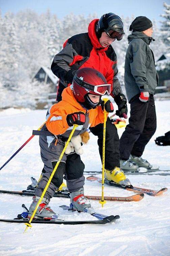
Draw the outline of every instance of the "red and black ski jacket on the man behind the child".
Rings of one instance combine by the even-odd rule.
[[[117,78],[117,56],[111,45],[105,48],[101,46],[95,33],[97,22],[98,19],[90,22],[88,33],[78,34],[66,40],[63,49],[54,57],[51,70],[60,79],[58,101],[61,100],[63,89],[73,82],[75,70],[84,67],[94,68],[105,76],[108,84],[112,85],[112,97],[121,92]]]

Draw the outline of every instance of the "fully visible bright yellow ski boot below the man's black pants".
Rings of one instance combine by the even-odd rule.
[[[105,179],[121,186],[131,185],[130,180],[126,178],[124,172],[117,166],[111,171],[105,169]]]

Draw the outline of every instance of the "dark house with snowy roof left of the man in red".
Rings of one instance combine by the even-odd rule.
[[[59,79],[53,74],[51,68],[40,66],[38,70],[32,77],[33,80],[38,80],[40,82],[45,82],[45,84],[49,84],[51,87],[51,92],[57,91],[57,84]]]

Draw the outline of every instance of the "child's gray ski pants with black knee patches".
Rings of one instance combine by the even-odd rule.
[[[64,142],[59,138],[56,144],[56,138],[54,136],[41,135],[39,136],[39,145],[44,170],[35,191],[36,196],[41,196],[64,148]],[[64,153],[44,197],[47,199],[53,197],[55,190],[58,189],[63,182],[63,175],[69,192],[78,191],[84,185],[84,168],[85,166],[81,161],[80,155],[76,153],[66,155]]]

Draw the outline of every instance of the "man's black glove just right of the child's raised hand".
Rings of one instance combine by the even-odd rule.
[[[116,115],[119,117],[127,118],[128,107],[127,107],[127,100],[124,94],[119,93],[114,97],[114,100],[118,106],[118,110],[116,110]]]

